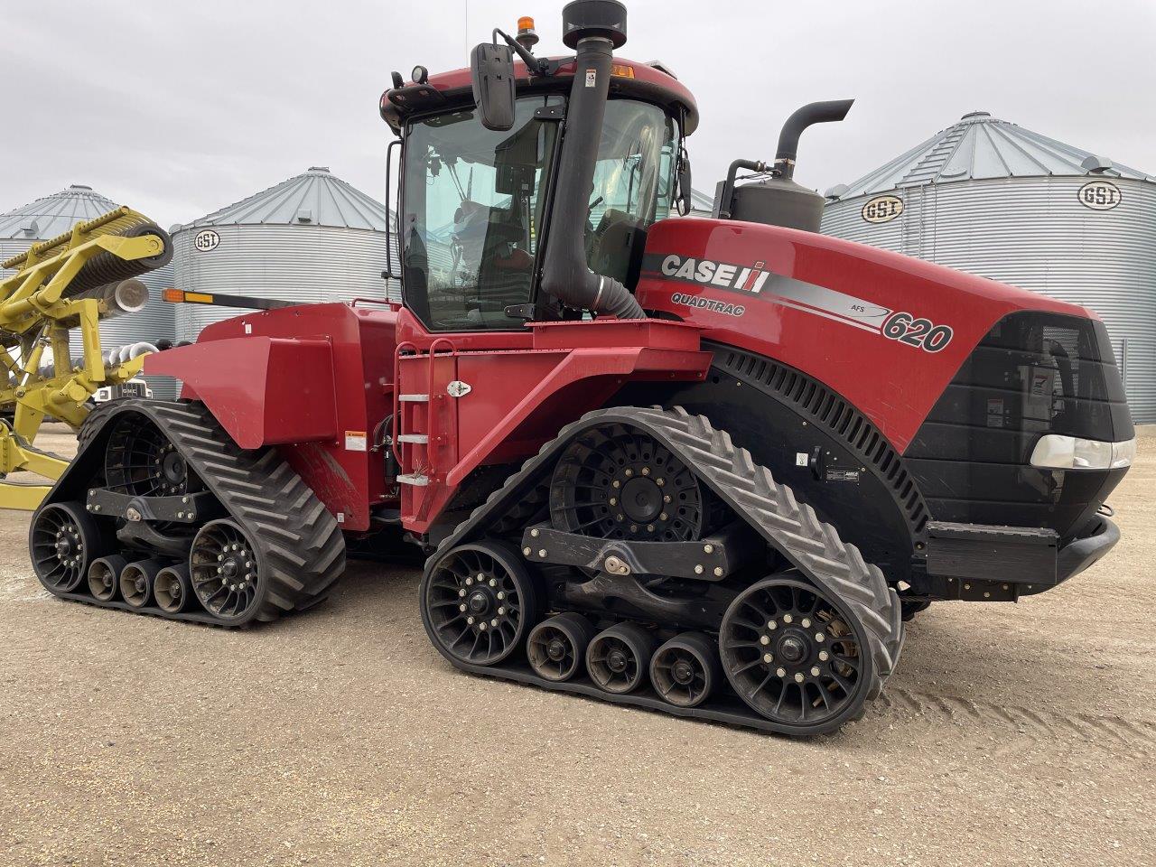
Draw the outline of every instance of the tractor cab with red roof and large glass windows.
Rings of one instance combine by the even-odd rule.
[[[539,60],[524,44],[532,21],[519,24],[518,42],[506,37],[514,49],[482,45],[472,69],[430,77],[417,67],[409,83],[395,74],[381,97],[402,153],[395,276],[406,307],[431,332],[578,318],[599,301],[596,289],[571,294],[584,280],[632,291],[646,230],[689,201],[689,91],[658,65],[612,65],[609,51],[605,71],[581,57]],[[495,123],[484,92],[492,62],[476,58],[503,51],[506,117]],[[517,65],[514,51],[525,55]],[[577,117],[584,108],[598,123]],[[554,269],[561,291],[543,287],[548,251],[563,261]]]

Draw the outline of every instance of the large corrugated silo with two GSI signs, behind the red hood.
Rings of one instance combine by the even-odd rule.
[[[827,197],[828,235],[1095,310],[1156,422],[1156,177],[980,111]]]

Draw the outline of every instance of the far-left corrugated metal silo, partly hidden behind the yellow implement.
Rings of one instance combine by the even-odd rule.
[[[76,223],[108,214],[119,206],[95,192],[92,187],[73,184],[67,190],[0,216],[0,261],[22,253],[38,240],[47,240],[69,231]],[[7,272],[2,272],[7,273]],[[173,305],[161,298],[162,288],[173,283],[172,264],[144,274],[141,281],[149,288],[149,302],[136,313],[101,323],[101,346],[105,349],[131,343],[156,343],[175,335]],[[73,335],[73,355],[80,354],[79,335]],[[176,383],[169,377],[146,377],[154,397],[176,397]]]

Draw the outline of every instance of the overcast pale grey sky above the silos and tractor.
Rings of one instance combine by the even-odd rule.
[[[162,225],[310,165],[383,197],[390,71],[464,66],[556,0],[0,0],[0,212],[88,184]],[[695,186],[773,156],[785,117],[857,97],[802,139],[796,179],[851,181],[968,111],[1156,173],[1156,0],[631,0],[621,54],[661,59],[702,113]]]

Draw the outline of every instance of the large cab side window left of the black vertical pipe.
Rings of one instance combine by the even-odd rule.
[[[506,306],[532,301],[561,96],[519,99],[513,128],[473,109],[415,121],[406,138],[406,304],[438,331],[519,327]]]

